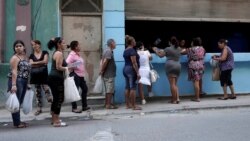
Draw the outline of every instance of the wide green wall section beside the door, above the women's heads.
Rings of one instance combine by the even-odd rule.
[[[47,50],[47,42],[60,36],[59,0],[32,0],[32,38],[40,40],[43,49]]]

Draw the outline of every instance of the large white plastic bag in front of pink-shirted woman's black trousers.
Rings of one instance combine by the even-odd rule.
[[[70,103],[81,100],[79,91],[76,87],[74,77],[69,76],[69,71],[65,71],[66,78],[64,80],[64,103]]]

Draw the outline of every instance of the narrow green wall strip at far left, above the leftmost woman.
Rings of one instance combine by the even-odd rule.
[[[13,55],[13,42],[16,39],[16,0],[5,0],[5,48],[4,62],[9,63]]]

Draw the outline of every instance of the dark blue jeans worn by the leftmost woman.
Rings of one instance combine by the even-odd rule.
[[[23,99],[27,90],[27,84],[28,84],[28,79],[17,78],[16,80],[16,87],[17,87],[16,96],[20,105],[23,103]],[[12,80],[10,78],[8,82],[8,91],[11,90],[11,87],[12,87]],[[21,122],[20,110],[16,113],[12,113],[12,120],[14,126],[18,126],[20,124]]]

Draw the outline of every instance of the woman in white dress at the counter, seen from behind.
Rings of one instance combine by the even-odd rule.
[[[152,83],[150,81],[150,60],[152,60],[152,55],[148,50],[144,49],[144,45],[142,42],[136,43],[137,53],[140,56],[140,80],[138,81],[138,92],[142,100],[142,104],[146,104],[146,100],[143,93],[143,85],[147,85],[149,96],[153,96],[152,93]]]

